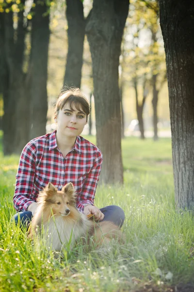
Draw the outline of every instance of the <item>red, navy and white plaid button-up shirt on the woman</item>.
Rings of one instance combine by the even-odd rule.
[[[56,131],[35,138],[21,153],[14,207],[17,211],[26,211],[48,183],[61,190],[72,182],[77,193],[77,208],[83,211],[86,204],[94,204],[101,165],[101,151],[81,136],[77,136],[65,158],[57,147]]]

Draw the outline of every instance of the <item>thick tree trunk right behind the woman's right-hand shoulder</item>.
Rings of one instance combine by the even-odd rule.
[[[129,0],[94,0],[86,25],[94,78],[97,146],[103,153],[101,182],[123,183],[118,66]]]

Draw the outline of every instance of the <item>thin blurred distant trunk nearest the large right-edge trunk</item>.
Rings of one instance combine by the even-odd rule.
[[[152,76],[152,87],[153,87],[152,106],[153,106],[153,127],[154,127],[154,136],[153,136],[153,139],[154,139],[154,141],[157,141],[158,140],[158,111],[157,111],[157,106],[158,106],[158,90],[156,89],[157,75],[158,74],[154,74]]]

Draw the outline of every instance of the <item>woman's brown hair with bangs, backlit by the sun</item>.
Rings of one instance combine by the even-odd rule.
[[[65,88],[58,96],[57,102],[54,105],[54,117],[56,118],[59,110],[62,110],[65,104],[69,104],[70,110],[73,110],[72,106],[79,111],[83,111],[86,114],[86,123],[88,121],[88,115],[90,114],[90,105],[87,98],[81,93],[79,88]]]

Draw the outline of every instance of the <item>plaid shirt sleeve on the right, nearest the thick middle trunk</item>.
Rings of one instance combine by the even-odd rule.
[[[86,175],[80,196],[77,198],[77,208],[83,212],[85,205],[94,205],[94,198],[102,167],[102,153],[98,150],[92,169]]]

